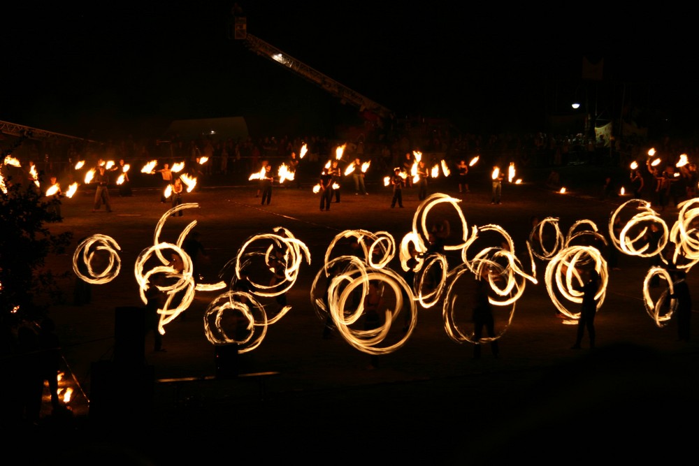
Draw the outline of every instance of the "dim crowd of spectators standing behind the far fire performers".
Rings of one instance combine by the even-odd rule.
[[[102,160],[123,159],[140,168],[151,160],[161,163],[196,161],[206,157],[208,162],[201,169],[203,175],[222,175],[231,183],[245,182],[251,173],[258,172],[262,161],[277,165],[287,161],[291,152],[298,154],[306,146],[308,152],[301,163],[301,170],[319,173],[322,165],[336,155],[336,147],[345,145],[343,160],[347,163],[359,157],[372,162],[373,176],[383,177],[402,166],[405,154],[420,151],[426,154],[428,164],[447,160],[452,169],[462,159],[480,156],[487,165],[507,164],[511,161],[519,168],[556,168],[559,166],[592,164],[599,166],[628,167],[631,161],[644,162],[649,147],[655,147],[665,163],[675,163],[680,154],[690,161],[699,159],[699,141],[645,140],[637,136],[613,138],[605,141],[593,136],[554,135],[539,133],[503,133],[482,136],[456,132],[453,129],[433,127],[412,128],[393,136],[359,132],[357,136],[329,139],[320,136],[266,136],[261,138],[199,138],[174,135],[168,140],[157,137],[136,140],[128,137],[101,143],[79,139],[24,140],[13,150],[13,156],[22,163],[34,161],[44,174],[62,179],[70,176],[78,161],[89,165]],[[432,159],[432,160],[431,160]],[[309,172],[310,173],[310,172]],[[79,181],[79,180],[78,180]]]

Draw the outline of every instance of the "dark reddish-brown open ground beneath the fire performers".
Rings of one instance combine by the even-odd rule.
[[[505,183],[502,205],[490,204],[487,175],[481,173],[480,182],[475,174],[472,193],[461,206],[469,228],[500,224],[516,245],[524,244],[532,214],[559,217],[564,233],[578,219],[605,228],[621,199],[599,199],[604,173],[604,168],[563,168],[565,195],[543,187],[547,173],[523,173],[524,184]],[[406,208],[391,210],[391,193],[379,183],[369,185],[369,196],[354,196],[345,187],[340,204],[319,212],[312,182],[304,182],[301,190],[275,188],[268,207],[254,198],[252,184],[209,184],[185,195],[185,202],[199,203],[199,209],[168,219],[161,235],[174,242],[196,220],[210,256],[205,277],[214,279],[250,235],[275,226],[288,228],[312,254],[289,292],[291,312],[268,328],[259,348],[238,361],[239,372],[278,374],[264,384],[259,378],[203,380],[215,375],[215,349],[204,336],[202,316],[217,292],[198,292],[186,318],[166,327],[166,352],[153,352],[147,335],[143,369],[121,370],[114,362],[115,309],[140,307],[133,265],[152,244],[167,206],[154,189],[136,189],[131,198],[118,197],[114,189],[114,212],[91,213],[92,192],[80,192],[64,201],[64,222],[52,224],[52,231],[73,231],[75,245],[95,233],[110,235],[121,247],[122,268],[113,282],[93,286],[92,304],[82,307],[70,304],[73,279],[66,280],[69,304],[50,310],[66,369],[79,389],[70,403],[73,416],[46,412],[41,425],[23,433],[37,445],[27,451],[27,463],[165,465],[185,458],[188,463],[271,458],[305,464],[588,463],[679,459],[685,456],[685,442],[693,442],[698,347],[696,341],[676,341],[674,321],[658,328],[646,313],[641,289],[649,259],[621,256],[621,270],[610,272],[596,319],[595,351],[586,349],[586,340],[582,350],[570,349],[575,327],[556,318],[541,268],[539,283],[526,284],[499,340],[500,358],[486,347],[475,361],[471,344],[450,340],[439,303],[419,310],[408,342],[381,356],[377,370],[368,370],[369,356],[340,335],[322,338],[310,284],[340,231],[388,231],[399,242],[412,228],[417,191],[406,189]],[[431,191],[458,197],[453,184],[438,182]],[[434,221],[448,218],[456,224],[448,209],[431,215]],[[671,207],[663,217],[672,224],[677,210]],[[50,267],[69,270],[71,256],[52,259]],[[689,273],[689,282],[699,296],[696,273]],[[697,325],[694,316],[694,335]],[[147,381],[201,380],[139,386],[143,372],[141,379]]]

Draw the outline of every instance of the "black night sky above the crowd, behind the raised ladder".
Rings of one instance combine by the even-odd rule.
[[[228,38],[233,2],[3,7],[0,120],[76,136],[160,131],[172,119],[293,119],[326,131],[358,112]],[[688,14],[575,14],[527,4],[239,2],[247,31],[398,117],[462,131],[536,131],[588,99],[641,125],[691,131],[699,59]],[[568,8],[568,7],[566,7]],[[582,82],[582,59],[604,59]],[[593,104],[594,102],[594,104]],[[271,123],[271,131],[273,124]]]

